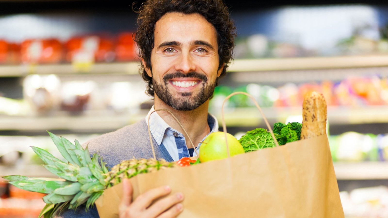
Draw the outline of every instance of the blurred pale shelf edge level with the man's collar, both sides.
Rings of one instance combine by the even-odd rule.
[[[327,119],[330,125],[388,123],[388,106],[365,106],[358,108],[328,107]],[[59,113],[56,116],[0,116],[1,130],[45,131],[45,130],[116,130],[125,125],[143,119],[148,110],[138,113],[114,113],[108,111],[88,111],[80,116]],[[285,122],[289,116],[301,116],[301,107],[263,108],[270,123]],[[221,114],[214,113],[221,122]],[[225,112],[227,126],[250,127],[262,125],[263,119],[255,108],[227,109]],[[220,123],[221,126],[221,123]]]

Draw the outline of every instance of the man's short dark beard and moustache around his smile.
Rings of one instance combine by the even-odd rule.
[[[202,81],[202,87],[199,92],[197,94],[194,94],[193,92],[180,92],[178,93],[179,96],[174,97],[171,88],[168,88],[168,81],[173,78],[187,77],[197,78]],[[165,102],[168,106],[178,111],[191,111],[201,106],[213,95],[216,87],[216,81],[210,84],[207,84],[207,81],[208,78],[204,74],[197,72],[190,72],[187,74],[175,72],[166,74],[163,77],[164,84],[158,83],[152,79],[152,85],[154,87],[155,94],[158,95],[159,99]]]

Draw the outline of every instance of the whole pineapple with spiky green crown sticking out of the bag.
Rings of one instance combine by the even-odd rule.
[[[94,154],[91,158],[88,148],[83,149],[78,140],[75,140],[74,145],[66,138],[57,137],[50,132],[49,135],[68,163],[38,147],[32,149],[45,163],[43,166],[62,179],[2,176],[18,188],[48,194],[43,197],[46,206],[38,218],[42,215],[55,217],[62,209],[76,209],[84,203],[88,209],[105,189],[117,185],[124,178],[177,166],[176,163],[168,163],[163,159],[130,159],[108,171],[106,163],[102,162],[99,155]]]

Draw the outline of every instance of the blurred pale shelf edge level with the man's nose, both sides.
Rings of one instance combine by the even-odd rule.
[[[96,63],[86,66],[72,64],[0,66],[0,76],[25,76],[27,74],[138,74],[139,62]],[[229,72],[289,71],[310,69],[338,69],[388,66],[388,55],[296,57],[271,59],[236,59]]]

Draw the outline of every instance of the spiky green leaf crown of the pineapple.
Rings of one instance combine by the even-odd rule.
[[[45,163],[43,166],[60,178],[29,178],[21,175],[2,176],[10,184],[24,190],[47,194],[46,203],[38,218],[52,218],[63,209],[76,209],[86,204],[88,210],[106,189],[109,170],[98,154],[90,156],[78,140],[74,144],[64,137],[48,131],[61,155],[62,161],[44,149],[33,147],[33,151]],[[65,181],[64,181],[65,180]]]

